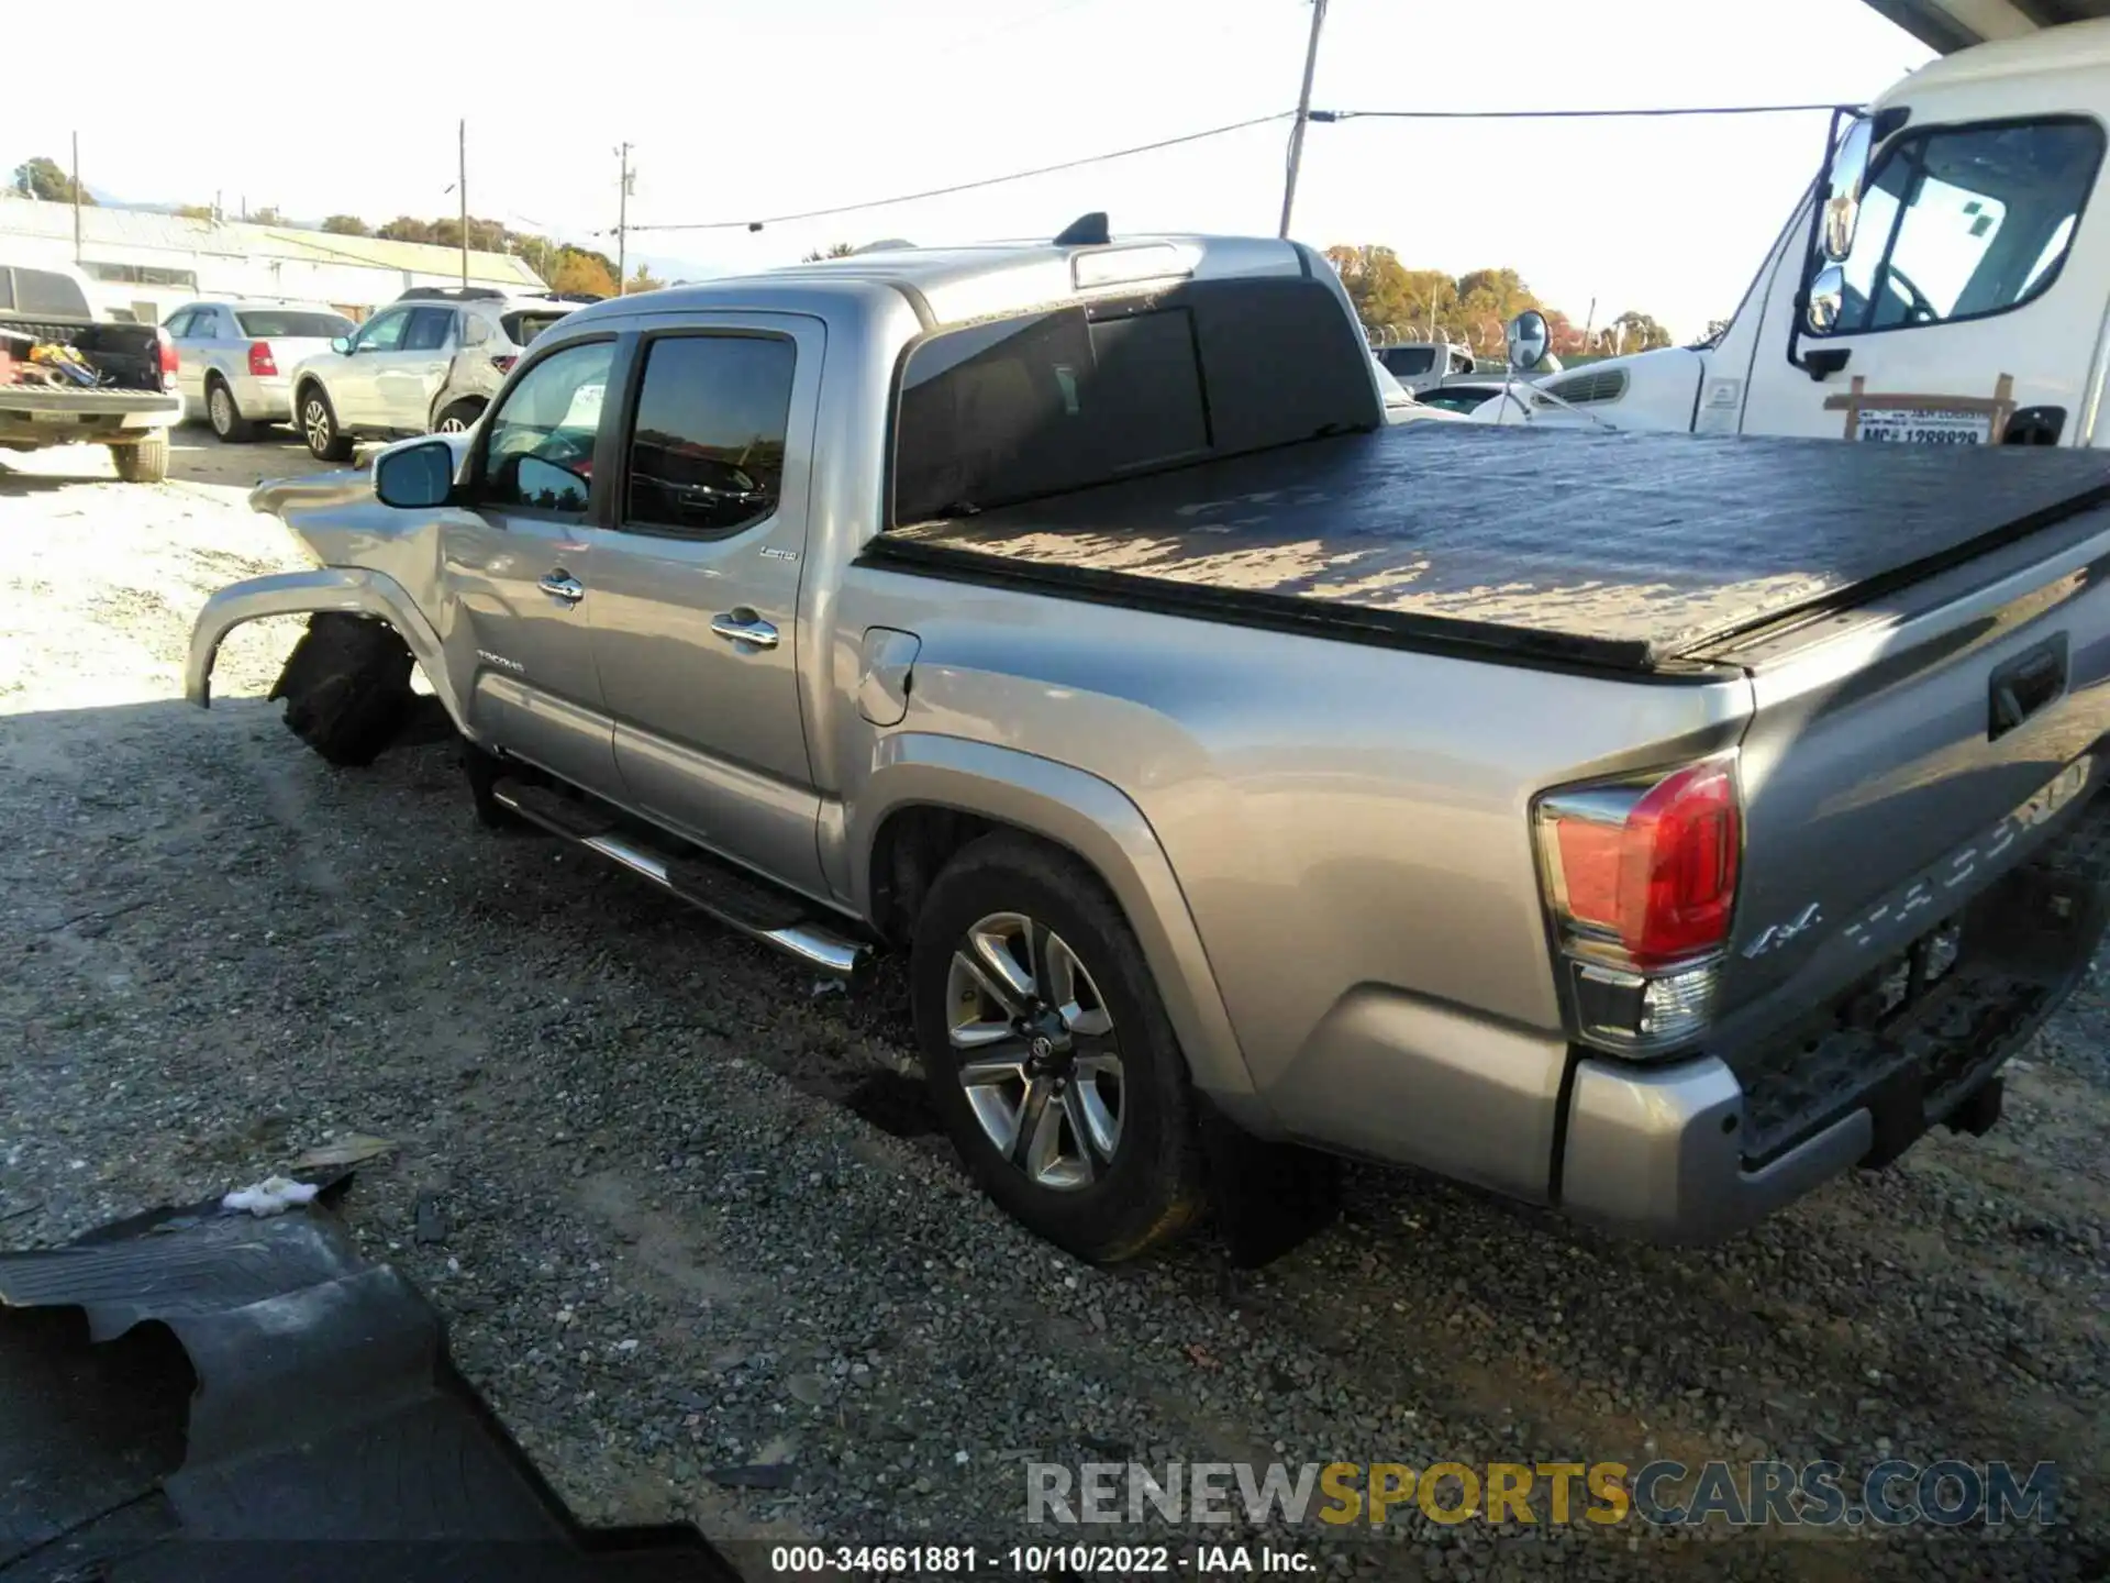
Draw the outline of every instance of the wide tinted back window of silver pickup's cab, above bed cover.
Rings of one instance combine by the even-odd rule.
[[[1306,279],[1190,283],[943,329],[903,359],[897,523],[1376,428],[1369,344]]]

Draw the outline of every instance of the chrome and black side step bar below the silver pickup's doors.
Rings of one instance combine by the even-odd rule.
[[[616,821],[591,802],[511,777],[492,783],[492,800],[528,823],[614,859],[631,874],[641,874],[728,929],[774,946],[785,956],[821,973],[855,981],[871,960],[869,943],[814,922],[800,899],[747,878],[713,857],[665,853],[641,836],[618,829]]]

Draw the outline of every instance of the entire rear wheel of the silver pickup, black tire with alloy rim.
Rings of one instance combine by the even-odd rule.
[[[975,931],[1023,979],[998,981],[992,954],[968,969]],[[1068,981],[1072,1015],[1044,1005],[1051,981],[1053,994]],[[909,1000],[933,1104],[1006,1214],[1097,1264],[1135,1258],[1196,1220],[1203,1155],[1186,1055],[1133,931],[1091,870],[1013,834],[962,848],[916,920]],[[1006,1022],[1013,1032],[1000,1034]],[[958,1024],[975,1028],[971,1043]],[[968,1085],[962,1072],[975,1066],[987,1081]],[[1059,1121],[1034,1123],[1057,1110]]]

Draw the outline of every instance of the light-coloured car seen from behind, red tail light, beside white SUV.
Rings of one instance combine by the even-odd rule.
[[[181,357],[184,416],[224,441],[293,420],[293,369],[357,325],[312,302],[186,302],[162,325]]]

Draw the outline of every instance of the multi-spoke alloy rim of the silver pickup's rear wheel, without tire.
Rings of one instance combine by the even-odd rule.
[[[1038,1186],[1091,1186],[1120,1150],[1125,1087],[1114,1017],[1047,924],[992,912],[958,941],[947,1036],[981,1131]]]

